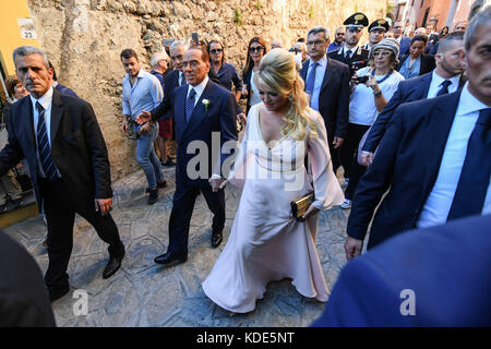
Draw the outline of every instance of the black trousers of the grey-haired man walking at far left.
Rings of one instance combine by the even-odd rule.
[[[73,249],[75,213],[84,217],[95,228],[99,238],[109,244],[108,251],[111,256],[124,252],[118,227],[109,213],[101,216],[95,210],[94,202],[80,208],[81,205],[74,204],[75,198],[70,196],[70,191],[61,179],[50,182],[39,178],[38,183],[48,222],[49,265],[45,282],[49,290],[68,286],[67,268]]]

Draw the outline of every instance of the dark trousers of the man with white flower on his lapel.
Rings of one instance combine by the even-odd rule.
[[[225,227],[225,192],[213,192],[212,186],[204,181],[201,185],[176,185],[173,193],[172,210],[169,219],[169,246],[168,253],[181,256],[188,255],[189,227],[194,210],[194,203],[200,193],[213,213],[213,231],[221,232]]]

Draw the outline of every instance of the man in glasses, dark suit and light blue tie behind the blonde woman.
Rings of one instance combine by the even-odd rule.
[[[340,165],[338,148],[342,146],[349,121],[349,68],[328,59],[328,29],[315,27],[309,31],[307,48],[310,60],[303,62],[300,76],[306,81],[310,107],[318,110],[327,129],[327,141],[334,171]]]

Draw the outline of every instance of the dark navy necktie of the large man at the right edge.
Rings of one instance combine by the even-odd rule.
[[[482,212],[491,172],[491,108],[482,109],[467,144],[447,220]]]

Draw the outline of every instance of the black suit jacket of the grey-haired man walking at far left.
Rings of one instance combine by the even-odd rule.
[[[15,122],[10,122],[9,144],[0,153],[0,176],[25,157],[40,209],[31,97],[13,104],[11,115],[15,116]],[[50,132],[52,159],[77,208],[94,209],[95,198],[112,197],[106,142],[92,106],[53,88]]]

